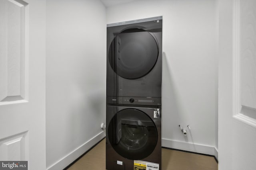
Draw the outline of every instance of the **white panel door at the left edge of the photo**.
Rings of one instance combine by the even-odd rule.
[[[45,170],[45,0],[0,0],[0,161]]]

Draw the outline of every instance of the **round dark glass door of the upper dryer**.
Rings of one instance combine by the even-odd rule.
[[[144,29],[126,29],[115,36],[109,47],[108,60],[114,72],[127,79],[140,78],[154,67],[158,45]]]

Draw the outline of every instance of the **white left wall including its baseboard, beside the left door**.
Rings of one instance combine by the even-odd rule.
[[[106,8],[47,0],[46,21],[46,166],[60,170],[105,136]]]

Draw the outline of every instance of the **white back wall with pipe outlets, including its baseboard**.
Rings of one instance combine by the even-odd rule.
[[[217,156],[216,1],[142,0],[106,12],[107,23],[163,16],[162,145]],[[187,137],[179,124],[190,125]]]

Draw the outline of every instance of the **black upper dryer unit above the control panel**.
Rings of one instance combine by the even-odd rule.
[[[161,85],[162,17],[107,25],[107,96],[161,98]]]

